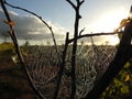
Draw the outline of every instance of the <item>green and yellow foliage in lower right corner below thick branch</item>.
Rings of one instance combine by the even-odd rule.
[[[128,62],[105,90],[100,99],[132,99],[132,67]]]

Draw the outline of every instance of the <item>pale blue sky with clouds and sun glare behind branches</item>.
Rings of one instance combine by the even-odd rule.
[[[76,0],[72,0],[76,4]],[[43,18],[52,28],[58,40],[65,38],[66,32],[73,35],[75,11],[66,0],[7,0],[7,2],[28,9]],[[85,28],[85,33],[112,32],[119,26],[122,19],[128,18],[132,0],[85,0],[80,7],[79,30]],[[15,30],[20,38],[51,40],[50,31],[42,22],[21,10],[7,7],[12,20],[15,22]],[[1,9],[1,8],[0,8]],[[0,10],[0,22],[4,20],[4,14]],[[0,24],[0,31],[7,30],[4,23]],[[35,35],[35,36],[34,36]],[[117,42],[117,37],[109,38],[111,43]],[[108,37],[96,38],[95,41],[108,41]]]

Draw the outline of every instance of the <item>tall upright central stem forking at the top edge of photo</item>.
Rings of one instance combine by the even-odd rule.
[[[80,6],[82,1],[76,0],[77,6],[75,6],[70,0],[66,0],[75,10],[75,28],[74,28],[74,41],[73,41],[73,52],[72,52],[72,95],[70,99],[75,99],[76,96],[76,51],[77,51],[77,36],[78,36],[78,28],[79,28],[79,19],[81,15],[79,14]]]

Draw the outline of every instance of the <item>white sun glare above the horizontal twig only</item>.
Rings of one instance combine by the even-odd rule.
[[[117,29],[122,19],[127,19],[128,11],[117,10],[105,13],[103,18],[97,22],[97,30],[100,32],[112,32]]]

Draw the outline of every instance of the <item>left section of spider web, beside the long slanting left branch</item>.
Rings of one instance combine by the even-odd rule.
[[[47,99],[53,96],[55,78],[59,66],[58,57],[53,46],[33,45],[28,47],[25,64],[38,90]]]

